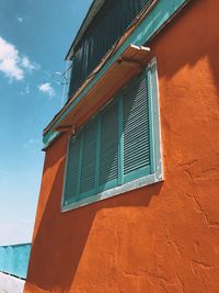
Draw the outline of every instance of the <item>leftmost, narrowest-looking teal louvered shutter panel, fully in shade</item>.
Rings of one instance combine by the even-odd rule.
[[[65,201],[76,201],[79,190],[81,135],[72,137],[69,142],[68,162],[66,172]]]

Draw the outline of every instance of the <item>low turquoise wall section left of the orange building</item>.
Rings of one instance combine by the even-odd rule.
[[[0,272],[26,279],[31,244],[0,246]]]

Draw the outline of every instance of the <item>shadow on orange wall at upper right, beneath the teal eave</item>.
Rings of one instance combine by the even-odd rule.
[[[214,86],[219,93],[218,9],[219,2],[217,1],[193,0],[151,44],[147,44],[152,47],[152,52],[154,47],[157,56],[162,56],[159,78],[171,79],[185,66],[192,69],[206,57],[214,77]],[[212,83],[211,80],[206,80],[206,86],[208,82]]]

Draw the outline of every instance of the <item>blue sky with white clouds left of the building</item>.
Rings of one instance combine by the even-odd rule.
[[[30,241],[42,132],[61,105],[65,56],[92,0],[0,1],[0,245]]]

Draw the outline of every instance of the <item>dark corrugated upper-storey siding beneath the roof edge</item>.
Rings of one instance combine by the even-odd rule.
[[[69,98],[80,88],[104,55],[124,34],[149,0],[105,0],[76,46],[72,59]]]

